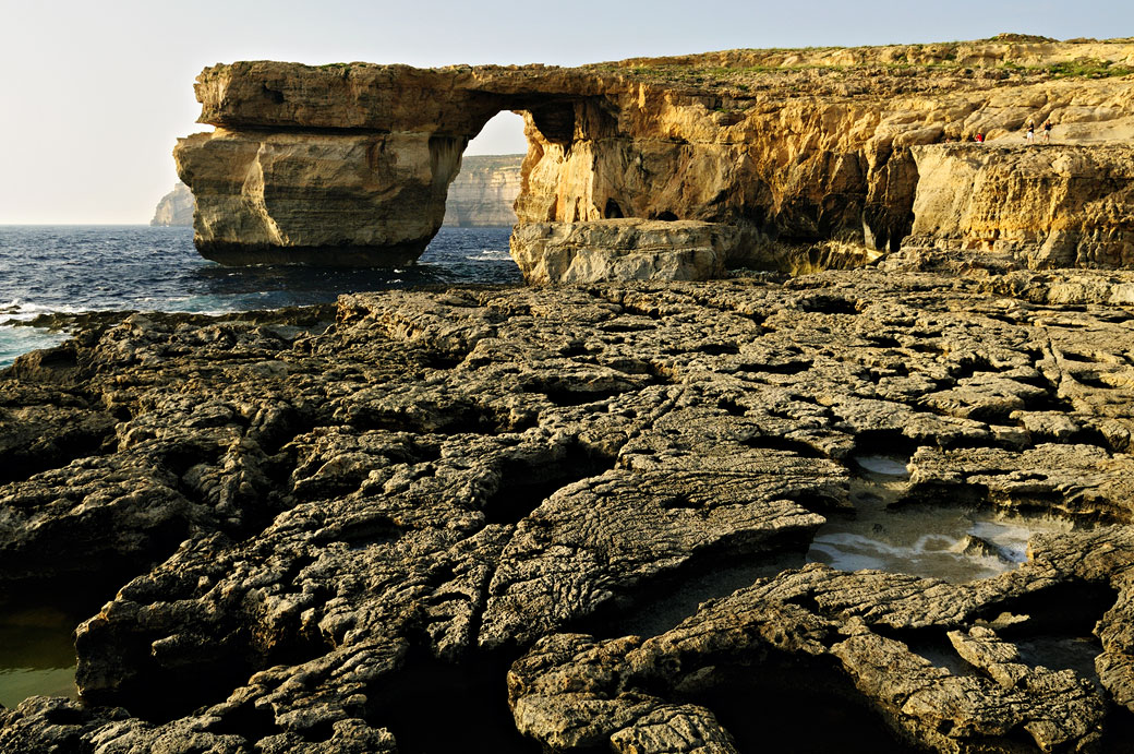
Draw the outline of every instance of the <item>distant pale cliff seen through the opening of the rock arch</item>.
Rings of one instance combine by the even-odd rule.
[[[523,154],[477,154],[460,160],[445,200],[445,225],[510,227],[516,224]]]

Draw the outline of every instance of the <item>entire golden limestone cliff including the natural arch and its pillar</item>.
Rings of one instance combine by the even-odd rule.
[[[201,122],[217,131],[175,156],[197,196],[197,246],[226,262],[415,258],[468,140],[507,109],[524,114],[528,141],[521,226],[572,224],[517,228],[530,278],[548,268],[523,261],[525,238],[586,248],[593,229],[601,251],[609,228],[587,224],[619,218],[733,238],[704,270],[784,268],[823,243],[894,252],[907,238],[1033,267],[1114,266],[1134,254],[1132,72],[1128,40],[1013,36],[579,68],[238,62],[201,74]],[[1029,120],[1035,143],[1022,149]],[[980,146],[956,143],[976,134]],[[654,226],[628,227],[645,235],[620,229],[612,258],[665,253]]]

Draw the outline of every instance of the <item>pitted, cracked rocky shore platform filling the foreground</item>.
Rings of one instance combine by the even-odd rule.
[[[0,751],[1129,751],[1131,307],[862,269],[93,321],[0,374],[0,598],[102,604]],[[806,562],[879,453],[890,516],[1066,531]]]

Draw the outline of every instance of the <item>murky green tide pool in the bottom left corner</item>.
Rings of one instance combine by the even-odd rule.
[[[0,611],[0,704],[28,696],[69,696],[75,689],[75,620],[50,608]]]

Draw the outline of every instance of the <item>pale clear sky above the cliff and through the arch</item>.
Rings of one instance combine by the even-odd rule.
[[[0,224],[144,224],[234,60],[579,65],[733,48],[1134,35],[1129,0],[0,0]],[[524,151],[501,116],[466,153]]]

